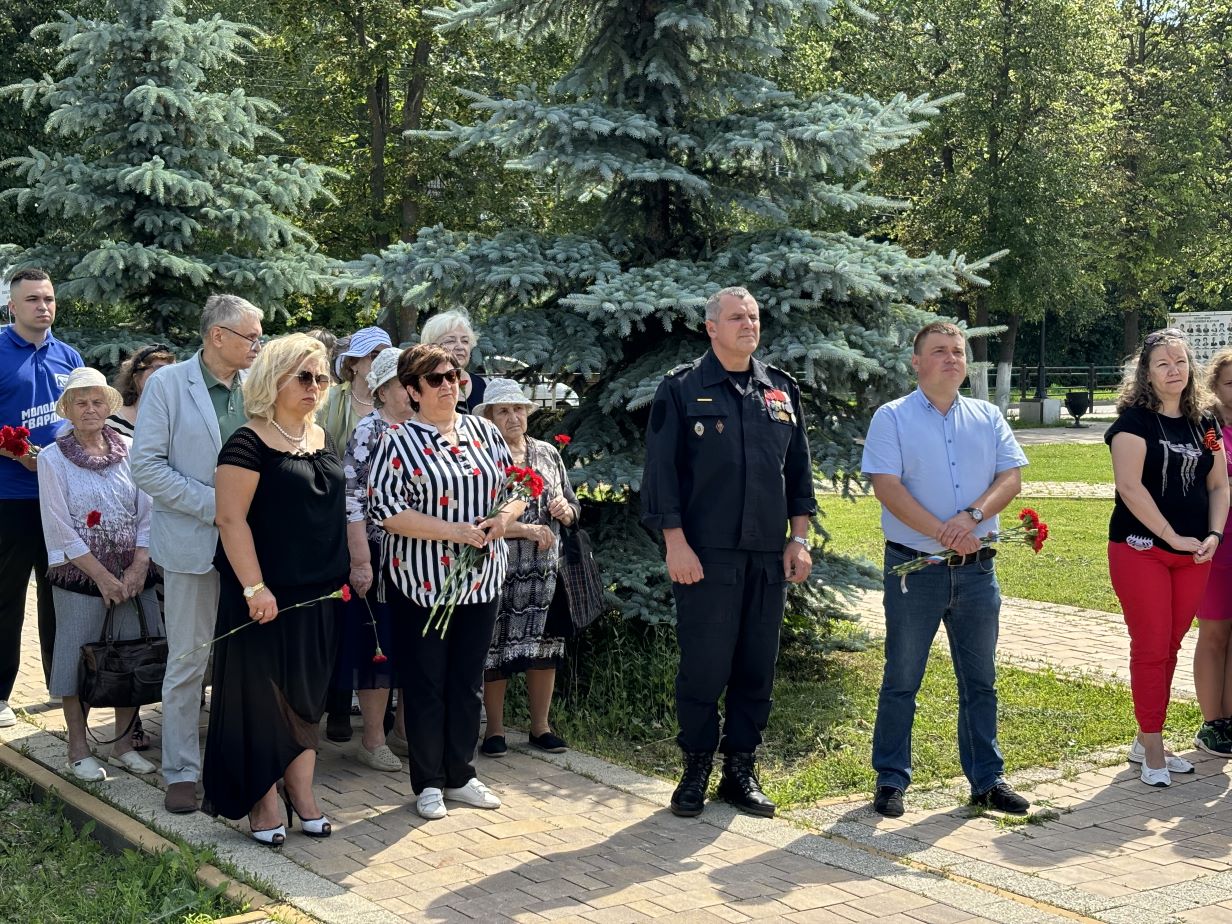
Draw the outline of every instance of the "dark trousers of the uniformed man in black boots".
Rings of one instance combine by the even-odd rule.
[[[687,753],[752,754],[770,721],[779,631],[787,600],[781,552],[696,548],[703,578],[676,598],[676,742]],[[718,731],[718,699],[726,721]]]

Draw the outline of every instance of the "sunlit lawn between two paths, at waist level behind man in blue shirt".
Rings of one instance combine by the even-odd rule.
[[[1036,510],[1048,524],[1048,541],[1039,554],[1013,545],[997,556],[1002,593],[1027,600],[1120,612],[1108,579],[1108,517],[1111,500],[1061,498],[1014,501],[1004,516],[1016,516],[1024,506]],[[881,505],[875,498],[855,501],[823,499],[823,525],[830,548],[839,554],[867,558],[881,564],[885,538]]]

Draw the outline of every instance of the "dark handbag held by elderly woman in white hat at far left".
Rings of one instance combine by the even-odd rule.
[[[116,607],[107,607],[102,636],[81,646],[78,662],[78,696],[89,706],[147,706],[163,700],[166,673],[166,637],[152,636],[140,598],[133,598],[140,638],[117,642],[112,637]]]

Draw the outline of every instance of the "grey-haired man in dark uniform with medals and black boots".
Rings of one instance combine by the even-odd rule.
[[[642,476],[642,522],[663,530],[680,639],[676,742],[685,770],[671,811],[701,813],[717,747],[719,797],[769,817],[775,804],[761,792],[753,752],[770,718],[786,582],[798,584],[813,567],[817,500],[800,388],[753,359],[761,324],[747,288],[711,296],[706,333],[706,355],[671,370],[654,394]]]

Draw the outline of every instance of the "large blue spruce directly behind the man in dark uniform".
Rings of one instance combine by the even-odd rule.
[[[457,153],[490,145],[509,169],[543,176],[579,203],[568,209],[573,233],[430,228],[347,266],[345,290],[468,306],[485,354],[585,382],[558,428],[573,437],[575,477],[595,489],[596,549],[626,616],[671,618],[658,537],[638,524],[644,409],[664,372],[706,349],[710,293],[753,291],[759,356],[800,379],[819,478],[845,482],[871,411],[909,388],[920,306],[983,285],[986,261],[915,257],[849,233],[857,209],[898,205],[862,190],[873,158],[919,133],[944,101],[801,97],[768,79],[798,17],[824,22],[833,5],[460,0],[437,14],[444,31],[563,32],[579,52],[554,86],[471,94],[483,121],[428,134]],[[835,589],[859,575],[821,556],[788,605],[796,625],[839,611]]]

